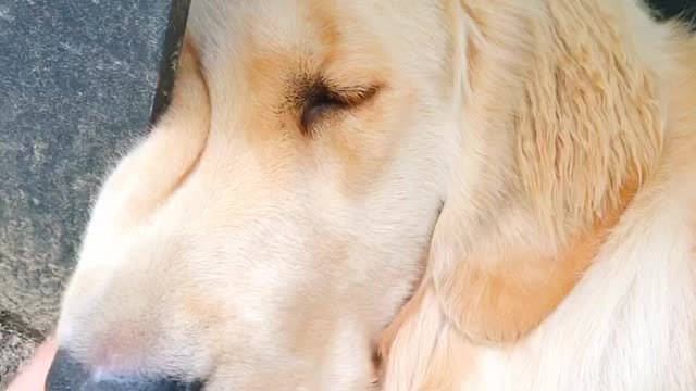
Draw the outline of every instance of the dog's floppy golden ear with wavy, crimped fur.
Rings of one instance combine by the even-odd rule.
[[[461,159],[428,269],[460,332],[510,342],[569,294],[650,174],[659,104],[600,2],[461,11]]]

